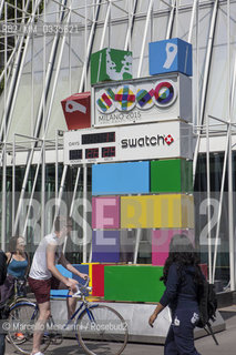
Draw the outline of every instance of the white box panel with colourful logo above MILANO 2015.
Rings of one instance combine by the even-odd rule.
[[[166,93],[166,103],[157,102],[156,94],[160,95],[164,88],[157,88],[167,82],[171,87]],[[129,95],[134,102],[130,102],[127,108],[122,108],[116,99],[109,98],[109,90],[116,97],[121,97],[123,88],[129,85]],[[138,92],[145,90],[151,98],[148,102],[138,103]],[[173,92],[172,92],[173,90]],[[107,110],[103,106],[106,98]],[[168,98],[171,98],[168,100]],[[126,103],[125,99],[122,99]],[[164,100],[165,101],[165,100]],[[120,125],[141,122],[156,122],[182,119],[192,121],[192,80],[182,74],[155,75],[145,79],[126,80],[122,82],[103,83],[94,87],[92,95],[92,122],[95,126]]]

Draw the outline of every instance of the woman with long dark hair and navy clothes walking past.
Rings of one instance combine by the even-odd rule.
[[[153,326],[164,307],[172,313],[165,346],[165,355],[201,355],[194,346],[194,328],[199,321],[198,293],[204,275],[193,244],[184,234],[176,234],[170,243],[168,257],[163,276],[166,290],[148,320]]]

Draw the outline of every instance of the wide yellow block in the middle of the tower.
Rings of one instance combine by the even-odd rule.
[[[121,196],[122,229],[193,229],[192,195]]]

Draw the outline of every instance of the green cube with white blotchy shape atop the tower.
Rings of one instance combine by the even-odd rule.
[[[91,55],[91,84],[132,79],[132,52],[105,48]]]

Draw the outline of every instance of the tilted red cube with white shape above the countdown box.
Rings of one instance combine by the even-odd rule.
[[[75,93],[61,101],[69,130],[91,126],[91,93]]]

